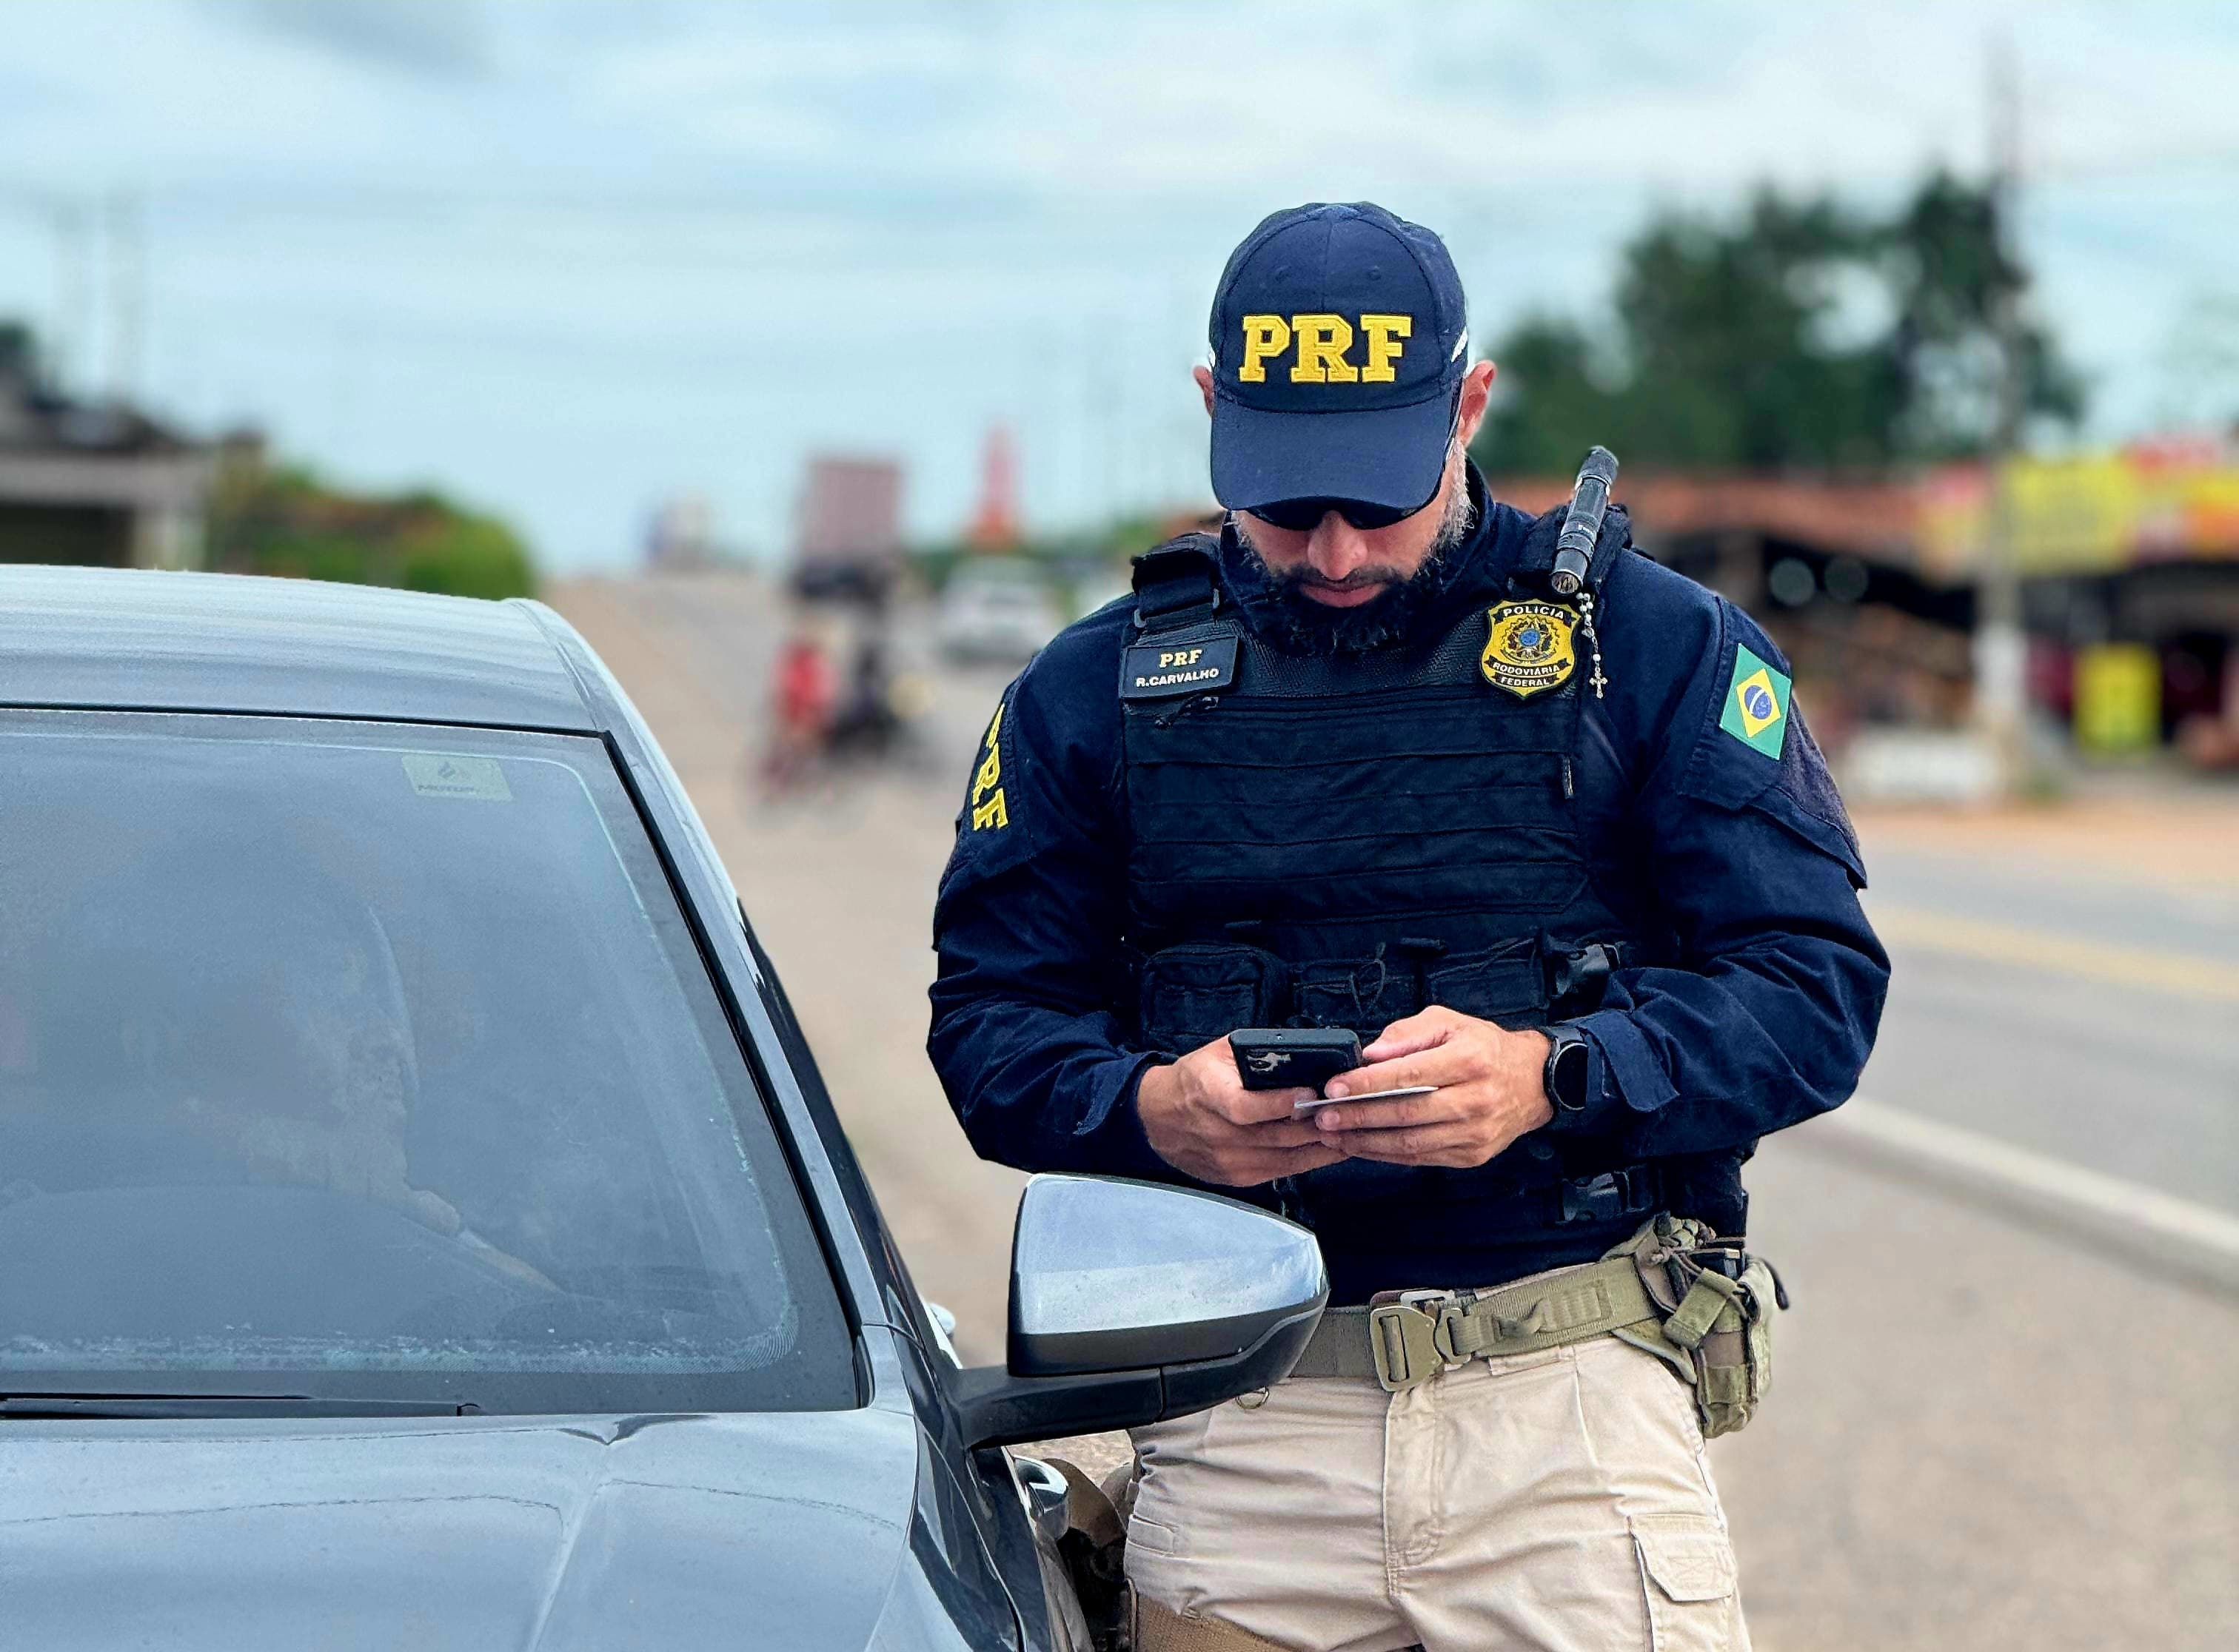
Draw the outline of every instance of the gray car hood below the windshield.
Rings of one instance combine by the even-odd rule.
[[[938,1468],[914,1419],[887,1410],[0,1421],[4,1639],[49,1652],[1012,1643],[1014,1621],[958,1641],[927,1609],[920,1473]]]

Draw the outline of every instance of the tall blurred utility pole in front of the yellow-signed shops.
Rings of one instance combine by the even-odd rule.
[[[1990,522],[1975,586],[1975,723],[1997,766],[1997,788],[2013,797],[2024,779],[2029,640],[2022,631],[2022,575],[2015,557],[2015,461],[2026,410],[2022,334],[2022,96],[2013,40],[1990,43],[1990,228],[1999,280],[1990,289],[1997,340],[1997,428],[1990,437]]]

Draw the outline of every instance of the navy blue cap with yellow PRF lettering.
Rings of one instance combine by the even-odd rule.
[[[1381,206],[1294,206],[1214,293],[1214,497],[1229,510],[1437,492],[1469,322],[1446,244]]]

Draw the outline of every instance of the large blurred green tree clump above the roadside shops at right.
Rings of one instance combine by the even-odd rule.
[[[1476,454],[1514,475],[1570,470],[1596,441],[1702,470],[1982,452],[1995,307],[2024,289],[1993,197],[1943,172],[1885,219],[1771,190],[1733,222],[1661,215],[1623,248],[1608,327],[1531,316],[1493,347],[1500,398]],[[2024,372],[2031,412],[2082,412],[2035,325]]]

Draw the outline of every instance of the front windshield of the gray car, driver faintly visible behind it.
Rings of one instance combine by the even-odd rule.
[[[0,719],[0,1395],[855,1404],[596,739]]]

